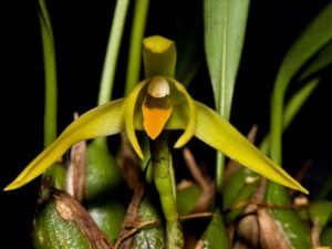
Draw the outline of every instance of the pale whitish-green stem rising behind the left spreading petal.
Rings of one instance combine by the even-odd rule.
[[[127,13],[129,0],[117,0],[114,18],[111,27],[111,34],[107,44],[107,51],[103,68],[97,104],[104,104],[111,100],[113,91],[113,81],[115,75],[115,65],[121,45],[125,17]]]

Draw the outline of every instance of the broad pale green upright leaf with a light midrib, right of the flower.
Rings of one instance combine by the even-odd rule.
[[[249,0],[204,1],[204,39],[216,110],[230,115],[234,85],[245,40]]]

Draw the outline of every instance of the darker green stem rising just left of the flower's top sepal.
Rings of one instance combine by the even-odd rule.
[[[128,68],[126,73],[125,95],[127,95],[139,81],[142,61],[142,40],[144,35],[149,0],[137,0],[135,3]]]

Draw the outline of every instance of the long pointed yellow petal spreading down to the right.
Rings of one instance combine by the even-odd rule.
[[[195,103],[197,108],[195,136],[197,138],[278,184],[309,194],[219,114],[199,102]]]

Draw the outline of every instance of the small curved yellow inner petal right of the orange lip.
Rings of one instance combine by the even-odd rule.
[[[186,98],[186,104],[188,105],[188,122],[185,128],[184,134],[177,139],[175,143],[174,147],[179,148],[184,146],[188,141],[194,136],[195,134],[195,127],[196,127],[196,105],[191,96],[188,94],[187,90],[185,86],[177,82],[174,79],[167,77],[168,81],[173,82],[175,87],[177,89],[178,92],[180,92],[185,98]]]

